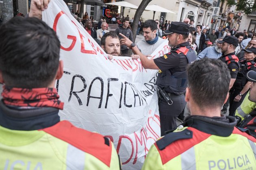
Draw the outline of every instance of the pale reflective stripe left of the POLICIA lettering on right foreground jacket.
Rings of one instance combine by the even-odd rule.
[[[195,170],[195,149],[191,147],[181,155],[181,168],[182,170]]]

